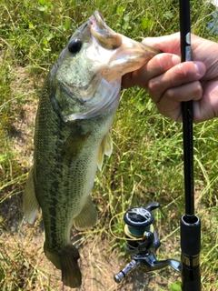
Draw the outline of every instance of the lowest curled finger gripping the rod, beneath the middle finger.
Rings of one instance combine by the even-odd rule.
[[[175,121],[182,121],[181,102],[198,101],[203,96],[203,87],[199,81],[166,90],[156,104],[159,112]]]

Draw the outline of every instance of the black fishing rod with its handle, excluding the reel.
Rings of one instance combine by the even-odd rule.
[[[191,61],[190,0],[180,0],[181,60]],[[180,221],[182,289],[201,290],[201,221],[194,215],[193,101],[183,102],[183,173],[185,214]]]

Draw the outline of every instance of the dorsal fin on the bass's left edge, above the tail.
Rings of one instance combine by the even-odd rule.
[[[34,168],[30,170],[29,176],[25,184],[23,208],[25,213],[25,219],[30,224],[33,224],[40,208],[38,200],[35,196]]]

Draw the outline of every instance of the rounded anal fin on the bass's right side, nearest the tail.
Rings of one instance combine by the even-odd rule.
[[[78,230],[90,228],[97,223],[97,218],[97,210],[94,206],[92,197],[88,196],[81,213],[73,220],[74,227]]]

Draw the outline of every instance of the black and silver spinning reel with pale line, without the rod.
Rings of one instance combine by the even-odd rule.
[[[153,210],[160,205],[151,202],[144,207],[131,208],[124,214],[124,234],[126,237],[126,253],[132,256],[132,261],[114,275],[114,281],[120,283],[134,268],[138,267],[144,273],[172,266],[181,272],[181,263],[174,259],[158,261],[156,251],[161,246],[160,239],[154,229]]]

